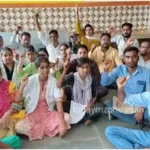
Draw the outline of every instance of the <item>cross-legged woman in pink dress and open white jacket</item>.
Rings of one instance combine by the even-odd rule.
[[[23,97],[28,99],[26,119],[16,124],[16,132],[29,137],[29,140],[43,139],[45,135],[63,136],[69,125],[69,115],[64,114],[62,95],[56,87],[56,79],[49,74],[49,60],[47,57],[37,57],[35,66],[38,74],[29,79],[22,78],[17,102]],[[57,111],[54,105],[57,105]]]

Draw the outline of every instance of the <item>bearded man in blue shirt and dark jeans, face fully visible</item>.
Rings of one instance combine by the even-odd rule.
[[[101,84],[102,86],[108,86],[111,83],[115,82],[119,77],[127,77],[129,76],[129,80],[125,85],[125,95],[128,94],[138,94],[145,92],[149,89],[149,79],[150,79],[150,70],[138,66],[138,49],[136,47],[128,47],[124,51],[124,63],[125,65],[120,65],[116,67],[112,72],[108,73],[109,70],[109,61],[104,62],[104,73],[101,76]],[[104,102],[107,108],[113,107],[113,101],[107,100]],[[113,110],[113,108],[112,108]],[[118,111],[112,111],[111,115],[109,114],[109,119],[111,116],[115,116],[122,121],[136,124],[140,122],[144,118],[147,119],[148,114],[147,110],[139,107],[135,114],[123,114]]]

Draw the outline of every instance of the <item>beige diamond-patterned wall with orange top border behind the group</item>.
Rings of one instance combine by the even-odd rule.
[[[7,6],[7,8],[6,8]],[[1,4],[0,7],[0,30],[13,31],[17,25],[23,26],[24,30],[36,30],[34,14],[41,15],[43,30],[52,28],[66,28],[75,30],[75,4]],[[132,22],[134,29],[146,29],[149,18],[149,2],[132,3],[80,3],[80,18],[82,26],[90,23],[95,30],[104,30],[109,25],[115,24],[117,30],[124,22]],[[92,7],[91,7],[92,6]],[[18,8],[15,8],[18,7]]]

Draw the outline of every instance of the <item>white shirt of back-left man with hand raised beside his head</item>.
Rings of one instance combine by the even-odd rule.
[[[18,34],[13,33],[12,37],[10,38],[10,46],[11,48],[15,49],[18,54],[24,54],[26,52],[26,47],[17,42],[17,36]]]

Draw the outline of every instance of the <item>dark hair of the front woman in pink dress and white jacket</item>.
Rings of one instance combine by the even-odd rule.
[[[36,57],[36,59],[35,59],[35,67],[36,67],[36,68],[39,68],[40,65],[41,65],[41,63],[43,63],[43,62],[45,62],[45,63],[47,63],[47,64],[49,65],[49,60],[48,60],[48,58],[45,57],[44,55],[40,55],[40,54],[39,54],[39,55]]]

